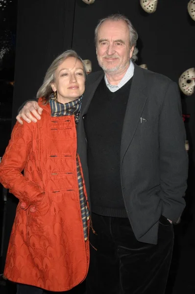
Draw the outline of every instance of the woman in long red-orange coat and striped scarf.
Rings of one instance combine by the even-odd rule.
[[[42,119],[16,123],[0,163],[0,182],[19,199],[4,270],[17,294],[67,291],[87,275],[90,217],[76,145],[85,77],[75,51],[53,61],[37,93]]]

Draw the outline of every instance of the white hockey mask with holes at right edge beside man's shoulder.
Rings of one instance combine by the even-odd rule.
[[[191,96],[195,92],[195,68],[191,68],[181,74],[179,87],[187,96]]]

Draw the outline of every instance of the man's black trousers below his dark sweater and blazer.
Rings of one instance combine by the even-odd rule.
[[[173,226],[161,216],[158,244],[138,242],[127,218],[92,213],[87,294],[164,294],[168,279]]]

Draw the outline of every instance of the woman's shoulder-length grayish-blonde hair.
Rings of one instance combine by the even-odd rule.
[[[86,79],[87,72],[86,72],[85,65],[84,65],[81,57],[74,50],[67,50],[67,51],[63,52],[62,54],[57,56],[53,60],[51,65],[49,66],[49,69],[47,70],[43,84],[37,92],[36,98],[40,98],[40,97],[44,98],[44,104],[47,104],[49,102],[49,98],[51,97],[51,95],[53,95],[53,90],[51,88],[51,84],[55,82],[55,72],[56,72],[57,68],[64,60],[66,60],[69,57],[74,57],[75,61],[76,61],[76,59],[78,59],[82,62],[84,76]]]

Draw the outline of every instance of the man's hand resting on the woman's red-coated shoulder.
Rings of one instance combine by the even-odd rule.
[[[27,123],[36,123],[37,120],[40,120],[40,115],[42,114],[43,108],[38,105],[37,101],[29,101],[27,102],[24,107],[21,109],[19,114],[17,115],[16,119],[20,124],[23,124],[21,118]]]

